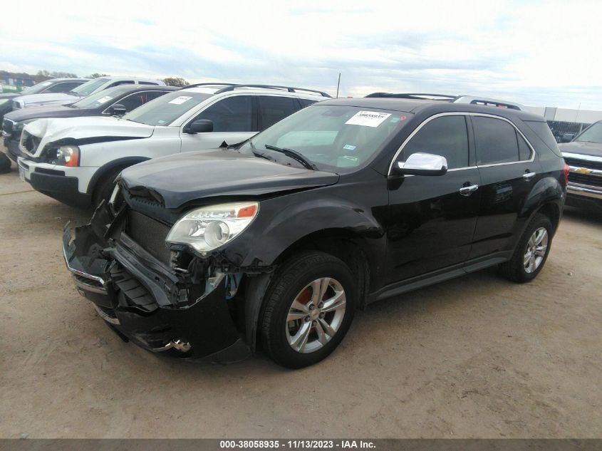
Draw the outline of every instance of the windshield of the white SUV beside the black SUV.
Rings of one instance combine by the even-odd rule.
[[[146,125],[170,125],[174,120],[180,118],[181,115],[212,95],[177,90],[145,103],[124,115],[123,119]]]

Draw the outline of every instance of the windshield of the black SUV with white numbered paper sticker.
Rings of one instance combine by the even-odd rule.
[[[282,164],[297,160],[296,165],[307,167],[286,155],[292,150],[319,170],[353,172],[403,127],[407,115],[365,107],[309,106],[259,133],[240,150]]]

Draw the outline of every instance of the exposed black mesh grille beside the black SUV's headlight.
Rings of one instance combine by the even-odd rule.
[[[128,210],[128,221],[125,233],[140,244],[149,254],[162,263],[170,264],[170,250],[165,247],[165,238],[170,232],[170,227],[162,222],[147,217],[145,214]]]

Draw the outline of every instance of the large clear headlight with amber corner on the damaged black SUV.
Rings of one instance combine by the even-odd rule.
[[[202,255],[238,237],[253,222],[258,202],[212,205],[188,212],[167,234],[167,244],[187,244]]]

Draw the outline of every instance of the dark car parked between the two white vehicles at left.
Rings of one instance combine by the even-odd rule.
[[[24,125],[41,118],[76,118],[87,116],[121,116],[165,93],[177,90],[172,86],[118,85],[90,94],[71,105],[48,105],[24,108],[7,113],[2,122],[6,154],[11,160],[23,155],[19,139]]]

